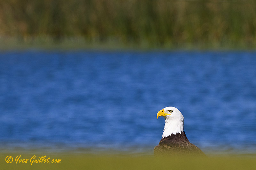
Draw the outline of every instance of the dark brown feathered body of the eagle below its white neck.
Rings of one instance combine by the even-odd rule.
[[[173,156],[178,154],[204,155],[204,152],[188,141],[185,132],[177,133],[176,135],[171,134],[171,136],[162,138],[154,148],[154,155],[156,156]]]

